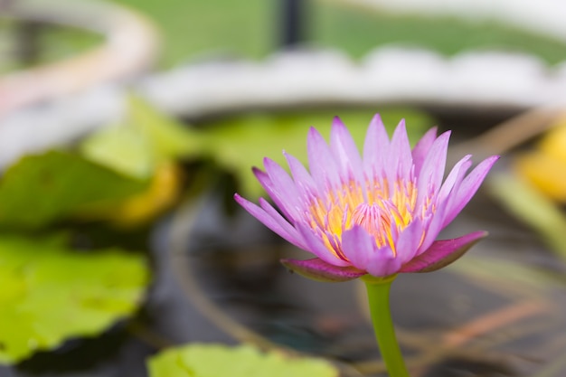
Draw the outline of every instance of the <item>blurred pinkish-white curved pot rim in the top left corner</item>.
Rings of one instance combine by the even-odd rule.
[[[0,15],[83,29],[105,40],[78,56],[0,76],[0,118],[29,104],[134,78],[156,60],[154,25],[118,5],[88,0],[0,0]]]

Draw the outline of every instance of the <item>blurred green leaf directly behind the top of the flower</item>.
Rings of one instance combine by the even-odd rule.
[[[391,130],[405,118],[411,141],[417,141],[433,126],[431,118],[406,108],[380,111],[383,123]],[[338,115],[348,127],[358,146],[363,139],[373,111],[337,110],[294,114],[253,114],[226,118],[203,130],[206,144],[201,146],[214,161],[241,178],[242,192],[259,195],[262,191],[251,174],[251,166],[262,166],[264,156],[287,166],[282,151],[307,162],[307,132],[313,126],[325,137],[330,134],[332,119]]]

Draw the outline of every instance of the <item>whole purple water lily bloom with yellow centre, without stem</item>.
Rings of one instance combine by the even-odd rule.
[[[443,183],[449,136],[448,131],[437,137],[432,128],[411,150],[404,120],[390,140],[376,115],[361,156],[335,118],[329,144],[315,128],[308,132],[310,173],[286,153],[290,175],[267,157],[265,172],[253,169],[279,211],[263,198],[256,205],[234,197],[271,231],[316,256],[282,260],[308,278],[344,281],[439,269],[486,236],[476,231],[436,240],[498,158],[486,158],[467,174],[472,163],[465,156]]]

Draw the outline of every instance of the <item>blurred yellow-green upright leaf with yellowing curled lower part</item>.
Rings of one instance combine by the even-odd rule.
[[[191,129],[131,96],[123,121],[87,137],[80,152],[120,174],[148,179],[150,185],[120,203],[85,206],[80,217],[130,227],[170,208],[181,193],[182,170],[175,160],[198,154],[197,140]]]

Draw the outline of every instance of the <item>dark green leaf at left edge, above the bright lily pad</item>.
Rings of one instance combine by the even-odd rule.
[[[0,181],[0,226],[37,228],[79,211],[140,193],[128,178],[69,152],[24,156]]]

